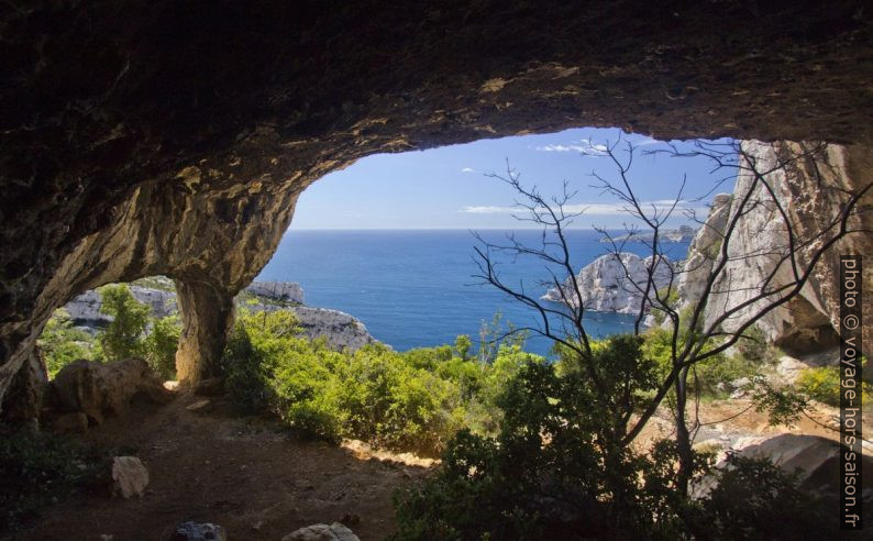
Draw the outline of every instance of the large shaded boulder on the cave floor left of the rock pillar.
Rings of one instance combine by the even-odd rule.
[[[124,412],[135,395],[157,404],[173,398],[142,358],[107,364],[80,358],[63,367],[53,386],[63,410],[81,411],[97,423]]]

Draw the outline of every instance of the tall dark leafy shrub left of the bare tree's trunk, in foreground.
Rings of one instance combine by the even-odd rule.
[[[619,373],[604,385],[630,382],[630,395],[650,386],[649,369],[627,369],[639,366],[632,336],[598,343],[595,355]],[[620,445],[615,417],[593,396],[578,371],[526,363],[498,398],[499,433],[460,431],[432,477],[395,495],[395,539],[672,538],[684,505],[675,445],[651,457]],[[698,471],[707,465],[698,457]]]

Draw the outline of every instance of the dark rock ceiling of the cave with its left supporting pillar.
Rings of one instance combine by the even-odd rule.
[[[861,2],[33,2],[0,18],[0,398],[26,388],[55,308],[152,275],[179,292],[180,378],[214,375],[232,298],[299,194],[368,154],[618,126],[827,141],[858,175],[873,162]]]

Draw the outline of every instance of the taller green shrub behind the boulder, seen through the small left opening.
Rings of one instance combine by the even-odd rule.
[[[99,291],[103,299],[100,311],[113,318],[99,336],[107,360],[145,356],[148,307],[137,301],[124,284],[104,286]]]

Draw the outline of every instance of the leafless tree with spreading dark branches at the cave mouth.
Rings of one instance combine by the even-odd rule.
[[[693,211],[683,209],[681,203],[687,186],[685,179],[683,178],[671,205],[647,203],[637,196],[629,178],[637,153],[634,146],[619,137],[616,143],[608,144],[606,150],[597,150],[609,158],[615,175],[608,177],[593,173],[595,186],[621,201],[627,214],[640,224],[627,228],[626,234],[621,236],[615,236],[604,229],[598,230],[604,235],[607,252],[615,256],[623,269],[625,285],[641,299],[634,320],[634,334],[639,335],[644,330],[647,314],[661,313],[671,336],[670,368],[656,383],[654,396],[638,405],[641,406],[638,408],[621,408],[618,401],[626,397],[607,396],[610,389],[601,384],[605,377],[604,367],[598,366],[592,355],[592,338],[586,331],[585,296],[575,278],[576,269],[571,264],[567,241],[567,230],[573,220],[584,212],[568,210],[575,191],[565,183],[557,196],[543,196],[535,187],[526,187],[520,181],[520,175],[508,164],[505,175],[491,175],[509,185],[517,194],[519,213],[516,218],[538,225],[542,234],[535,245],[524,244],[512,234],[507,235],[502,243],[488,242],[476,235],[480,243],[476,247],[479,268],[477,276],[539,316],[537,325],[518,330],[545,336],[561,344],[565,351],[572,352],[594,388],[601,393],[598,399],[603,404],[616,406],[612,430],[622,445],[629,445],[640,435],[672,391],[674,404],[671,409],[675,418],[675,441],[679,456],[678,486],[684,494],[687,493],[694,468],[693,435],[700,424],[697,418],[692,423],[686,418],[688,376],[693,367],[728,351],[738,341],[748,339],[747,331],[756,322],[800,294],[816,265],[838,241],[861,232],[854,217],[859,211],[859,200],[873,184],[854,191],[840,186],[828,186],[827,189],[836,190],[840,203],[835,216],[825,219],[819,217],[818,227],[799,224],[789,212],[788,201],[778,183],[789,181],[791,175],[802,163],[816,172],[830,167],[827,145],[796,146],[792,151],[782,148],[782,152],[773,153],[776,159],[772,163],[762,161],[739,142],[697,142],[690,151],[681,151],[672,145],[667,150],[655,151],[674,157],[704,157],[710,161],[715,170],[723,172],[725,175],[716,183],[716,187],[699,197],[698,201],[738,174],[744,179],[742,185],[737,186],[723,228],[712,232],[719,241],[718,245],[711,246],[710,253],[705,254],[695,265],[683,268],[667,263],[663,242],[667,221],[675,218],[676,213],[685,212],[687,218],[697,221],[700,227],[711,227],[704,219],[694,216]],[[824,177],[820,176],[819,181]],[[821,189],[825,188],[821,186]],[[738,231],[754,212],[767,212],[772,216],[772,221],[780,222],[781,236],[785,242],[755,250],[744,246],[739,240]],[[633,279],[621,257],[628,242],[642,242],[650,254],[645,260],[645,276],[642,280]],[[546,266],[549,279],[537,285],[540,288],[552,288],[559,296],[560,303],[543,301],[537,289],[526,288],[523,283],[516,286],[504,280],[498,272],[497,257],[500,254],[513,258],[540,260]],[[770,272],[759,284],[747,284],[740,291],[729,268],[742,260],[763,262],[765,264],[762,263],[762,266],[770,268]],[[659,285],[659,273],[663,278],[664,265],[668,274],[666,285]],[[689,299],[686,306],[679,307],[673,300],[674,294],[683,275],[687,278],[692,274],[698,280],[700,295]],[[741,300],[731,302],[732,297]],[[714,306],[715,299],[722,301]],[[626,400],[622,404],[627,406],[629,402]]]

